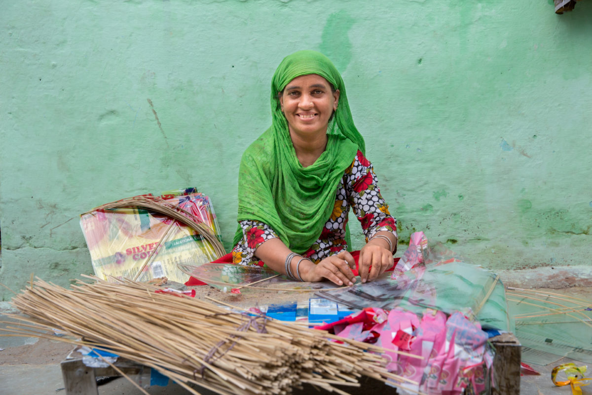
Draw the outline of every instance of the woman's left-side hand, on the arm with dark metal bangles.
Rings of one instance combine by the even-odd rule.
[[[300,259],[300,258],[298,258]],[[353,285],[356,277],[352,269],[356,267],[352,254],[348,251],[342,251],[336,255],[327,256],[327,258],[314,264],[306,259],[300,264],[300,275],[304,281],[321,281],[326,278],[337,285]],[[292,271],[295,272],[295,267]]]

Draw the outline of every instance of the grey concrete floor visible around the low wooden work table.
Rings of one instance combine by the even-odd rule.
[[[580,295],[592,296],[592,288],[579,290]],[[590,298],[592,299],[592,297]],[[0,327],[9,326],[14,322],[15,314],[8,302],[0,302]],[[0,336],[0,394],[1,395],[55,395],[65,394],[62,381],[60,362],[72,350],[73,346],[54,339],[37,339],[23,337]],[[520,383],[520,393],[523,395],[554,395],[571,393],[569,387],[556,387],[551,382],[551,370],[558,364],[570,362],[563,358],[553,364],[540,366],[530,364],[541,375],[524,375]],[[574,361],[578,366],[584,365]],[[386,394],[394,393],[389,387],[370,384],[363,388],[352,388],[352,394]],[[592,387],[592,386],[590,386]],[[99,395],[136,395],[141,391],[129,383],[125,378],[117,378],[110,383],[99,386]],[[592,389],[582,387],[584,394],[592,394]],[[345,389],[345,388],[344,388]],[[200,390],[203,395],[213,394],[207,390]],[[166,387],[149,387],[146,391],[151,395],[172,395],[188,393],[176,384]],[[317,393],[308,388],[297,391],[299,394]]]

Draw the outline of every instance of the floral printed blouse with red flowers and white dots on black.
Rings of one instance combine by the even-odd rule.
[[[345,225],[348,223],[349,208],[362,224],[366,242],[380,231],[397,236],[397,220],[388,212],[377,185],[372,164],[361,151],[346,169],[337,187],[333,212],[323,227],[317,241],[302,255],[318,264],[324,258],[347,249]],[[257,265],[259,258],[255,250],[269,239],[278,237],[267,224],[255,220],[240,221],[243,239],[232,249],[234,264]]]

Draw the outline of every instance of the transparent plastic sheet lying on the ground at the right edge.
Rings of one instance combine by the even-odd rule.
[[[592,301],[510,287],[507,298],[523,361],[546,365],[568,357],[592,363]]]

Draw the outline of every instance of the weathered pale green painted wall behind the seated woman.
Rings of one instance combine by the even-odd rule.
[[[15,290],[91,272],[78,215],[145,192],[200,187],[229,248],[240,155],[299,49],[343,73],[402,243],[425,230],[493,269],[589,265],[590,1],[15,1],[0,34]]]

